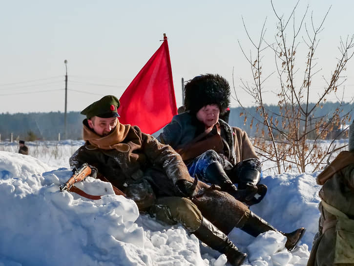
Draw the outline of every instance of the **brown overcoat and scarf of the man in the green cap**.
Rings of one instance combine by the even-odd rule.
[[[156,198],[184,197],[176,187],[176,181],[194,180],[189,176],[178,153],[153,136],[142,133],[138,127],[120,124],[113,133],[97,138],[84,120],[83,131],[86,143],[71,156],[70,165],[80,167],[83,163],[88,163],[97,167],[99,173],[125,193],[137,182],[147,180]],[[122,140],[118,144],[112,144],[112,138],[116,139],[121,135],[124,135]],[[233,227],[243,225],[248,207],[228,193],[210,189],[209,185],[198,181],[195,194],[196,197],[191,200],[203,216],[224,233],[228,234]],[[139,201],[138,207],[146,207],[139,197],[134,200]]]

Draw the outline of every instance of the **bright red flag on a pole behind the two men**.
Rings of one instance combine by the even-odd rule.
[[[167,37],[147,61],[119,99],[118,113],[122,124],[139,126],[152,134],[167,125],[177,114],[172,68]]]

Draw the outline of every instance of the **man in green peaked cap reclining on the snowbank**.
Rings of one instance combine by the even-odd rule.
[[[119,105],[115,96],[108,95],[81,112],[86,115],[85,144],[71,156],[72,168],[83,163],[97,168],[98,176],[133,199],[139,211],[169,224],[183,224],[202,242],[226,254],[234,266],[241,265],[247,254],[227,237],[233,227],[252,236],[277,231],[219,187],[190,177],[181,156],[169,145],[137,126],[119,123]],[[304,231],[283,233],[288,239],[285,246],[292,249]]]

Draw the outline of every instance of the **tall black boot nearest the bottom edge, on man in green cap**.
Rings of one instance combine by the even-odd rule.
[[[229,240],[227,235],[205,218],[203,218],[199,228],[192,233],[212,249],[225,254],[228,258],[228,262],[233,266],[241,265],[247,257],[247,254],[240,252],[235,244]]]

